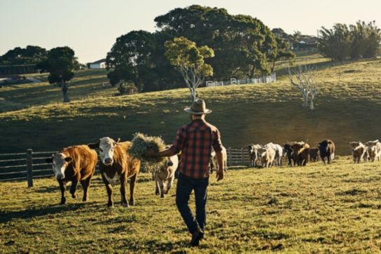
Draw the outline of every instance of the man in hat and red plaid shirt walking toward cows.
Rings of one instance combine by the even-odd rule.
[[[203,238],[206,225],[206,189],[209,182],[209,159],[212,147],[218,159],[218,181],[224,178],[225,168],[222,163],[220,131],[205,121],[206,114],[210,114],[212,111],[206,109],[205,102],[200,99],[184,110],[191,114],[192,122],[180,127],[173,145],[161,152],[149,150],[146,155],[173,156],[182,152],[176,189],[176,205],[192,234],[191,246],[198,246],[199,241]],[[196,199],[196,218],[188,206],[192,190],[194,190]]]

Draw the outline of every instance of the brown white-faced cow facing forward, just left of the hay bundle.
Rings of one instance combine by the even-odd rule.
[[[128,150],[132,142],[116,142],[112,138],[100,138],[96,143],[88,144],[91,149],[99,149],[100,175],[106,185],[108,207],[114,206],[112,200],[112,187],[121,183],[121,204],[128,207],[135,204],[134,189],[136,178],[140,171],[140,160],[131,156]],[[130,179],[130,200],[126,199],[126,184]]]

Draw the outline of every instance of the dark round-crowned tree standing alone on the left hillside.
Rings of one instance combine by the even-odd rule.
[[[46,59],[37,65],[41,72],[49,72],[49,83],[58,84],[62,89],[64,102],[69,102],[69,81],[74,76],[74,71],[79,69],[79,62],[74,56],[74,51],[68,46],[52,48]]]

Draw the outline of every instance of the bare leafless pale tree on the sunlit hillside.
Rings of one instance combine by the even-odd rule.
[[[293,70],[290,70],[290,67],[288,67],[288,76],[291,84],[302,93],[302,106],[306,108],[309,107],[311,110],[314,110],[314,100],[317,94],[314,70],[314,67],[307,65],[305,65],[305,67],[298,65],[298,67]]]

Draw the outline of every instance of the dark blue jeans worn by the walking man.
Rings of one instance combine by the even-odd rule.
[[[176,206],[182,219],[188,227],[191,234],[196,232],[197,228],[205,229],[206,225],[206,188],[209,184],[209,178],[194,179],[186,175],[179,174],[178,186],[176,188]],[[194,190],[196,199],[196,218],[188,206],[189,196]]]

